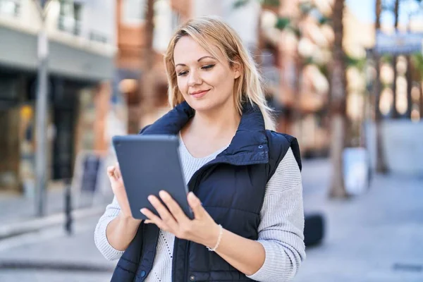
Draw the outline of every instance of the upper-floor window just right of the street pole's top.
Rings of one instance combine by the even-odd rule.
[[[73,35],[81,33],[82,5],[69,0],[60,0],[59,30]]]

